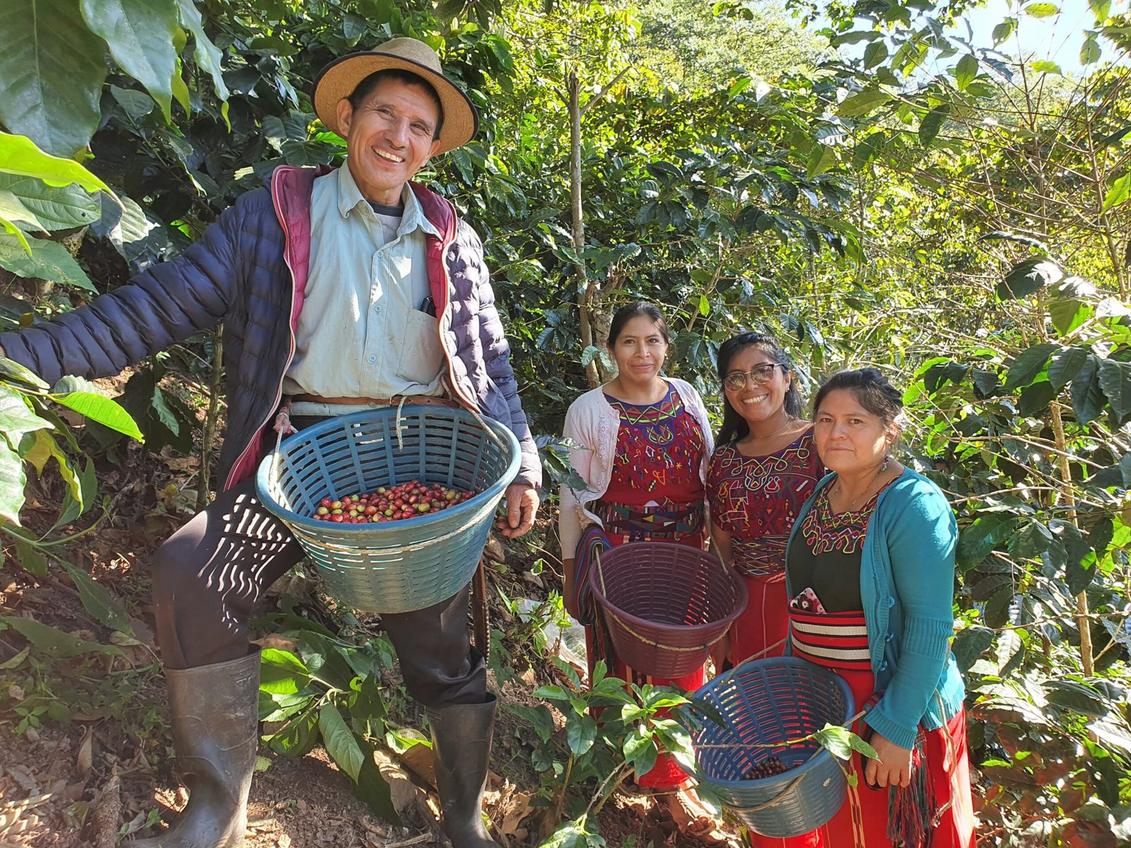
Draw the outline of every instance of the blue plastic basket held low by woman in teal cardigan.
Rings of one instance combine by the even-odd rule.
[[[785,743],[826,724],[847,724],[855,706],[844,678],[804,659],[772,657],[743,663],[696,696],[725,719],[723,726],[705,719],[705,727],[691,734],[696,776],[743,824],[766,837],[788,838],[836,814],[847,791],[836,759],[815,742]],[[789,771],[745,779],[771,756]]]

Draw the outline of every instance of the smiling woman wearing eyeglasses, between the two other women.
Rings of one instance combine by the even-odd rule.
[[[785,545],[824,466],[777,339],[743,332],[723,343],[717,363],[723,426],[707,471],[711,537],[750,594],[731,625],[728,650],[716,651],[722,666],[724,659],[739,665],[782,654],[788,625]]]

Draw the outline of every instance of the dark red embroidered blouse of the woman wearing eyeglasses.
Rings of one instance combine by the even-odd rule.
[[[793,522],[822,476],[811,430],[765,457],[743,456],[734,442],[715,450],[707,471],[711,520],[731,534],[740,572],[753,577],[785,568]]]

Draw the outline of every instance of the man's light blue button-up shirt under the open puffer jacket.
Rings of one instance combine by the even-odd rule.
[[[440,233],[408,185],[402,200],[398,225],[373,211],[348,166],[314,180],[310,276],[285,393],[443,393],[439,326],[420,309],[431,294],[425,235]],[[293,412],[325,415],[340,408]]]

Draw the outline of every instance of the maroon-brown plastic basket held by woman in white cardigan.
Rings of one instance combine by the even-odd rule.
[[[673,542],[601,553],[589,587],[616,656],[637,672],[682,677],[707,661],[746,606],[746,587],[713,554]]]

